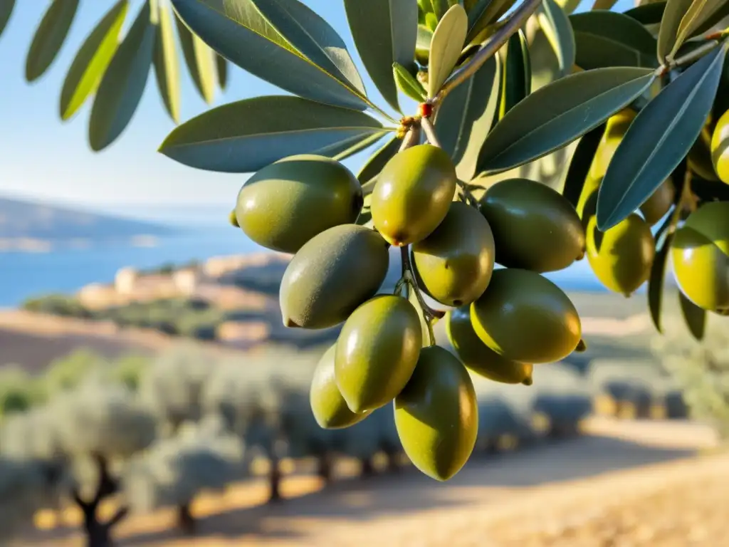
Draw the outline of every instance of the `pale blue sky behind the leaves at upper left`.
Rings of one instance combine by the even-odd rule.
[[[588,4],[584,0],[582,4]],[[157,152],[174,128],[163,110],[153,72],[132,123],[120,139],[101,153],[90,151],[87,120],[90,101],[74,119],[61,123],[58,97],[63,78],[86,35],[112,5],[112,0],[82,0],[71,33],[60,55],[41,79],[28,84],[23,77],[25,55],[33,32],[49,2],[19,1],[0,36],[0,194],[74,203],[119,211],[125,206],[232,205],[246,175],[218,174],[182,166]],[[341,0],[305,0],[343,36],[370,97],[378,104],[374,85],[366,76],[348,32]],[[631,7],[620,0],[617,9]],[[141,0],[133,0],[133,12]],[[133,14],[128,16],[128,23]],[[231,67],[229,86],[214,106],[241,98],[281,93],[266,82]],[[183,71],[182,120],[208,108]],[[356,170],[366,154],[346,163]]]

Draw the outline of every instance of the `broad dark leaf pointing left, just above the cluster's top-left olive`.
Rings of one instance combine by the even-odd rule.
[[[249,173],[295,154],[335,156],[383,127],[353,109],[265,96],[208,110],[172,133],[160,152],[184,165]]]

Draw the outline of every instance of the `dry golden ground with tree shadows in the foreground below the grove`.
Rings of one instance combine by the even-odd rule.
[[[716,446],[711,430],[595,419],[588,432],[474,459],[446,484],[406,470],[319,492],[313,479],[292,478],[292,499],[269,507],[257,505],[261,484],[236,486],[200,500],[198,538],[171,532],[165,511],[130,519],[117,538],[124,547],[729,545],[729,454],[696,455]],[[23,545],[82,545],[59,535]]]

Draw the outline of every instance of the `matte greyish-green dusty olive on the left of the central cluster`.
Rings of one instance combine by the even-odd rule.
[[[343,322],[387,275],[388,244],[354,224],[324,230],[294,255],[281,279],[284,325],[320,329]]]

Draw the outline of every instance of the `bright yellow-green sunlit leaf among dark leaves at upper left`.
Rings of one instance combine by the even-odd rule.
[[[119,35],[128,9],[128,0],[118,1],[87,36],[76,54],[61,89],[62,120],[73,116],[101,82],[104,71],[119,47]]]

